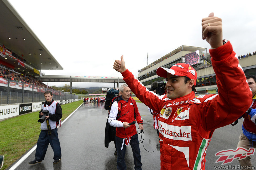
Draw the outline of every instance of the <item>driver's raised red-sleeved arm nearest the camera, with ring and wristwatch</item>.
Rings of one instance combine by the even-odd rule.
[[[219,92],[202,103],[201,126],[209,131],[243,115],[252,103],[252,92],[231,43],[223,45],[222,20],[213,13],[202,19],[202,37],[211,45],[209,53]]]

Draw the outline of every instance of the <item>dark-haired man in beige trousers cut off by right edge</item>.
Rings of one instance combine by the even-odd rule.
[[[247,82],[249,84],[249,87],[252,90],[252,105],[250,108],[252,109],[250,113],[244,114],[244,122],[242,125],[243,133],[239,136],[239,142],[237,144],[237,147],[242,147],[245,149],[249,148],[256,148],[256,125],[255,125],[255,113],[256,113],[256,76],[247,75]],[[254,116],[255,115],[255,116]],[[252,166],[252,162],[250,160],[250,156],[247,156],[246,158],[242,160],[238,160],[240,165],[244,167],[245,166]]]

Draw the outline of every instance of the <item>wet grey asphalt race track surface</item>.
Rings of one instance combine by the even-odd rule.
[[[143,145],[148,151],[156,149],[155,152],[150,153],[143,148],[142,143],[140,144],[142,169],[160,169],[160,150],[159,145],[156,148],[158,140],[156,130],[153,128],[153,116],[149,114],[147,106],[143,103],[137,103],[137,105],[143,119],[145,136]],[[104,110],[104,104],[90,102],[82,104],[58,128],[62,152],[62,158],[58,164],[53,165],[53,150],[49,145],[45,159],[41,163],[28,164],[29,161],[35,158],[35,151],[33,151],[16,169],[117,169],[114,142],[109,143],[108,148],[104,146],[107,117],[108,112]],[[137,123],[136,126],[138,128]],[[221,163],[215,163],[217,160],[216,152],[236,149],[238,137],[242,132],[241,126],[242,120],[239,120],[238,124],[234,127],[228,125],[215,130],[207,148],[206,169],[214,169],[214,166],[221,165]],[[139,135],[139,140],[140,138]],[[253,155],[251,157],[255,166],[256,156]],[[130,146],[127,147],[125,160],[127,169],[134,169]],[[234,166],[239,165],[239,163],[237,160],[234,160],[232,163],[226,164],[226,166],[228,165]]]

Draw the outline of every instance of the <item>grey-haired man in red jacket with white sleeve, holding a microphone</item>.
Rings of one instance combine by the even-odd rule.
[[[138,134],[135,123],[129,125],[133,121],[138,122],[140,130],[143,130],[143,121],[141,120],[137,104],[130,97],[131,90],[127,84],[122,84],[120,89],[121,96],[116,97],[109,112],[108,123],[116,128],[116,148],[117,148],[117,169],[126,169],[124,160],[126,146],[131,144],[134,169],[142,169],[140,162],[140,148]]]

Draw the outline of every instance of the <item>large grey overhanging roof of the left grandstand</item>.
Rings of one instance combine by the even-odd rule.
[[[0,45],[4,45],[22,56],[26,60],[25,69],[63,70],[62,66],[7,0],[0,1],[0,20]],[[19,67],[17,63],[14,64],[15,59],[4,59],[1,56],[0,59],[13,65],[15,69]]]

